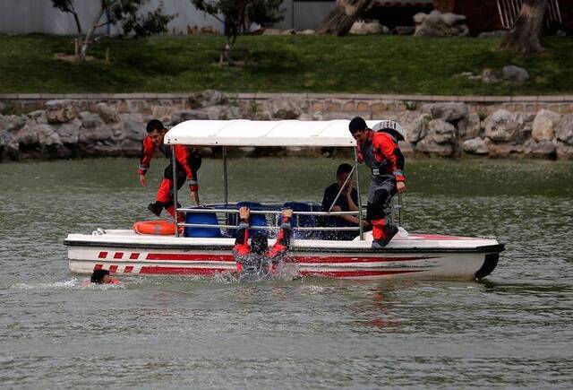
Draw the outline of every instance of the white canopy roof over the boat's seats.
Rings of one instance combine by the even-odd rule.
[[[355,146],[349,120],[188,120],[169,130],[167,144],[195,146]],[[369,120],[372,128],[379,120]]]

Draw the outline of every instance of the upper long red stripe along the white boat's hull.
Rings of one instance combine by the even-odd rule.
[[[343,256],[290,256],[298,264],[342,264],[342,263],[390,263],[402,261],[415,261],[425,260],[435,257],[343,257]],[[193,254],[164,254],[164,253],[150,253],[146,257],[147,260],[162,260],[162,261],[202,261],[202,262],[221,262],[230,261],[234,262],[235,258],[232,255],[193,255]]]

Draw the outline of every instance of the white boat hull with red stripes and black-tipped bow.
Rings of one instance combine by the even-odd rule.
[[[372,250],[364,241],[299,240],[286,263],[301,276],[473,280],[491,273],[503,250],[492,239],[467,238],[472,240],[468,245],[461,238],[439,237],[398,238],[384,250]],[[233,240],[228,238],[70,235],[65,244],[73,273],[106,269],[115,274],[206,276],[236,270]]]

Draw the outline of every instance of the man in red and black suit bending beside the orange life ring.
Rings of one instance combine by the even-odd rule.
[[[141,146],[140,167],[138,169],[141,186],[147,186],[145,174],[150,168],[150,162],[157,150],[163,152],[169,165],[164,171],[163,180],[159,185],[156,201],[148,205],[150,212],[161,215],[161,211],[166,209],[175,218],[175,202],[173,198],[173,165],[171,164],[172,149],[163,143],[163,138],[167,133],[167,128],[158,119],[152,119],[147,124],[147,135]],[[177,168],[177,189],[181,188],[185,182],[191,190],[192,200],[200,204],[199,186],[197,183],[197,170],[201,167],[201,155],[196,149],[185,145],[175,145],[175,161]],[[180,207],[177,204],[177,207]],[[182,216],[183,217],[183,216]]]

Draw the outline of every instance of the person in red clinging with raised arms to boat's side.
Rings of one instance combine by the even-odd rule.
[[[282,215],[283,221],[278,230],[277,242],[269,249],[267,237],[261,233],[255,234],[249,245],[250,210],[248,207],[239,209],[241,223],[236,232],[233,256],[235,256],[236,270],[240,280],[261,279],[261,277],[272,274],[274,266],[286,255],[290,245],[290,219],[293,211],[283,210]]]

